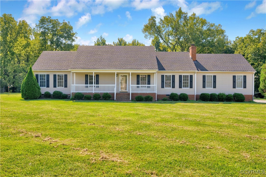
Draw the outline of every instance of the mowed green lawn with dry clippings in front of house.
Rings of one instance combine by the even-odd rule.
[[[1,176],[241,176],[266,170],[266,104],[1,94]]]

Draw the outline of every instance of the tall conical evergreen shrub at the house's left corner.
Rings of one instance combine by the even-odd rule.
[[[27,76],[23,79],[21,84],[21,97],[26,100],[32,100],[38,99],[40,96],[41,88],[30,67]]]

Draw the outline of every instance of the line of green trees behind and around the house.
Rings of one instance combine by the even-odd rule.
[[[264,29],[251,29],[246,36],[231,41],[220,24],[210,23],[195,13],[188,15],[180,8],[163,19],[151,16],[142,32],[156,51],[186,52],[193,43],[197,53],[240,53],[256,69],[255,91],[259,89],[260,73],[266,60]],[[16,22],[11,14],[3,14],[0,33],[1,88],[13,85],[12,92],[20,91],[29,67],[42,51],[76,51],[79,46],[75,44],[77,33],[71,24],[50,16],[42,16],[35,28],[31,28],[25,20]],[[94,45],[144,46],[137,39],[127,42],[123,38],[107,44],[103,36],[98,37]]]

